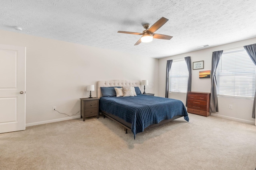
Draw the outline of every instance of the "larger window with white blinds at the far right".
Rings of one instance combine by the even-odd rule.
[[[254,98],[255,65],[244,48],[223,51],[216,73],[219,96]]]

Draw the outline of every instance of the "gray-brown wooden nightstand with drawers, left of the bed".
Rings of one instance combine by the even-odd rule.
[[[97,116],[99,118],[99,98],[81,98],[81,118]],[[83,121],[84,121],[83,119]]]

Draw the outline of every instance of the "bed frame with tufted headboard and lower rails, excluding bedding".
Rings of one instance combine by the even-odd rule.
[[[133,87],[139,87],[140,86],[140,82],[127,81],[127,80],[98,81],[97,82],[97,98],[102,97],[102,92],[101,92],[100,87],[113,87],[113,86],[121,86],[121,87],[122,86],[133,86]],[[121,119],[120,117],[118,117],[116,115],[113,115],[111,113],[107,113],[107,112],[102,111],[102,110],[100,110],[100,113],[102,113],[104,118],[106,116],[106,117],[110,118],[111,120],[113,120],[113,121],[119,123],[120,125],[122,125],[126,129],[126,133],[127,133],[128,129],[131,130],[131,128],[132,128],[132,124],[131,123],[128,123],[128,122],[124,121],[123,119]],[[162,120],[162,121],[160,121],[160,123],[149,125],[146,128],[162,125],[164,123],[173,121],[173,120],[178,119],[180,117],[183,117],[183,116],[177,115],[177,116],[174,116],[172,119]]]

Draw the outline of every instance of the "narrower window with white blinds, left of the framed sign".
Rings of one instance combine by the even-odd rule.
[[[185,59],[174,60],[170,70],[170,92],[186,93],[188,88],[188,66]]]

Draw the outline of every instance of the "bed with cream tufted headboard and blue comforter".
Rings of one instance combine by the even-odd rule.
[[[137,96],[116,97],[102,95],[106,87],[132,86],[136,89]],[[104,117],[120,123],[130,129],[134,134],[143,132],[145,128],[160,125],[180,117],[189,121],[186,107],[180,100],[148,96],[141,94],[140,82],[127,80],[112,80],[97,82],[97,97],[100,98],[99,110]],[[102,87],[102,88],[101,88]]]

